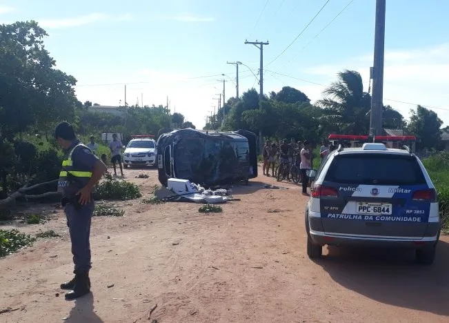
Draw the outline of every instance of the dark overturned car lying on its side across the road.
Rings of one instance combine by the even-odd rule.
[[[169,178],[208,187],[248,181],[257,177],[256,135],[247,130],[173,130],[157,141],[157,165],[164,186]]]

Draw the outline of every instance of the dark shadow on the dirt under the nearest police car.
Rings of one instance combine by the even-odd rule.
[[[449,315],[449,244],[440,241],[431,266],[415,263],[414,251],[330,247],[319,260],[335,282],[372,300]]]

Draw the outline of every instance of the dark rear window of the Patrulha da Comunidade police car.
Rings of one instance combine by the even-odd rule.
[[[410,155],[337,155],[324,180],[367,185],[426,184],[417,160]]]

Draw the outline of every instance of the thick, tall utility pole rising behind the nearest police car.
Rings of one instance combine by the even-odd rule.
[[[386,0],[376,0],[374,66],[372,67],[372,97],[370,136],[382,135],[383,55],[385,47]]]

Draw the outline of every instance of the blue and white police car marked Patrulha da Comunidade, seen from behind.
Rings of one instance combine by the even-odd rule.
[[[441,230],[435,186],[406,146],[339,146],[310,175],[310,258],[326,244],[392,246],[414,248],[417,262],[432,264]]]

